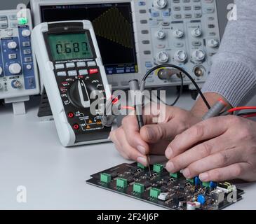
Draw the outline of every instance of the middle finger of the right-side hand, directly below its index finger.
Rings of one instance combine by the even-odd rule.
[[[169,164],[168,166],[175,167],[173,172],[180,171],[180,169],[184,169],[185,167],[191,165],[193,162],[206,158],[211,154],[228,150],[230,148],[230,144],[231,141],[227,141],[227,137],[225,134],[223,134],[220,137],[210,139],[209,141],[205,141],[202,144],[198,144],[188,151],[177,155],[175,158],[171,158],[169,163],[173,164]],[[166,155],[166,157],[168,158],[168,155]]]

